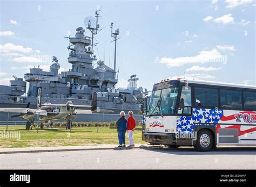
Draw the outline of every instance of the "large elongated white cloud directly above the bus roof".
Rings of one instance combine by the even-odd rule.
[[[185,56],[185,57],[162,57],[159,63],[166,64],[167,67],[180,67],[187,63],[205,63],[205,62],[218,62],[221,61],[223,56],[217,51],[217,49],[212,49],[212,51],[201,51],[196,56]]]

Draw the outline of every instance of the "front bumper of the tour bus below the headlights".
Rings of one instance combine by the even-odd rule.
[[[177,145],[175,133],[142,132],[142,140],[155,145]]]

